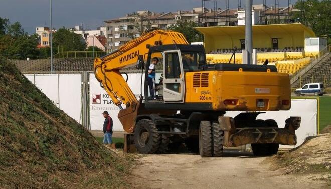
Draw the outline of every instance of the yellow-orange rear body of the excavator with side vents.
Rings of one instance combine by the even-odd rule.
[[[211,110],[215,111],[290,109],[288,74],[240,70],[187,72],[185,86],[185,103],[211,103]]]

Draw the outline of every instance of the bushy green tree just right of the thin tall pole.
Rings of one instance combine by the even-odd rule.
[[[53,49],[63,48],[63,51],[84,51],[86,43],[81,35],[64,27],[53,34]]]

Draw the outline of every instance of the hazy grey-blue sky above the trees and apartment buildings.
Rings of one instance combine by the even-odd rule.
[[[297,0],[292,0],[294,4]],[[230,8],[237,7],[237,0],[229,0]],[[275,0],[266,0],[267,6],[275,6]],[[262,4],[262,0],[253,0]],[[241,0],[242,7],[245,0]],[[288,0],[279,0],[279,6],[287,6]],[[154,12],[176,12],[201,7],[202,0],[52,0],[53,27],[96,29],[104,25],[104,20],[124,17],[137,10]],[[206,8],[212,8],[213,1],[206,2]],[[217,0],[217,8],[225,8],[225,0]],[[0,0],[0,17],[8,18],[11,23],[20,22],[29,34],[36,27],[49,27],[50,0]]]

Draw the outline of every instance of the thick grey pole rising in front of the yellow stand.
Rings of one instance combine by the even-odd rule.
[[[253,64],[252,53],[252,0],[246,0],[245,8],[245,49],[247,50],[247,64]]]

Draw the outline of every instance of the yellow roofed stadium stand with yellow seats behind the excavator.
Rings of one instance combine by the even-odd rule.
[[[306,26],[295,24],[253,25],[253,48],[256,62],[276,65],[279,72],[294,74],[318,57],[318,52],[305,50],[305,38],[315,37]],[[204,34],[207,63],[229,63],[234,48],[236,63],[242,63],[244,26],[198,27]],[[233,59],[230,63],[234,63]]]

